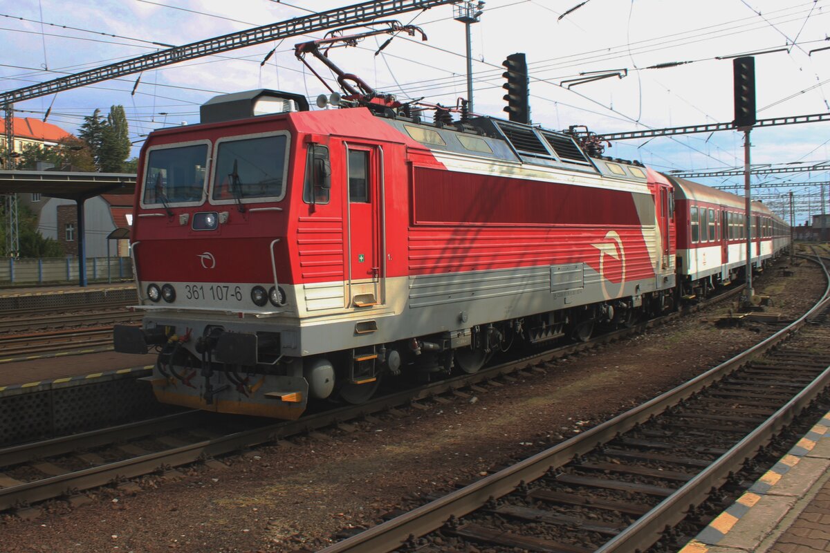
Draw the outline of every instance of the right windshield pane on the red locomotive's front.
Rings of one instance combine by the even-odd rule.
[[[224,140],[218,145],[213,199],[281,197],[286,135]]]

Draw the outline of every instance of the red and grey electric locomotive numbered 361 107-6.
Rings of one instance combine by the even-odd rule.
[[[566,133],[256,90],[149,135],[132,243],[159,400],[293,419],[675,301],[672,185]],[[262,111],[276,112],[261,114]]]

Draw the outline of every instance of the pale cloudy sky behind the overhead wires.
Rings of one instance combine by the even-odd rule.
[[[355,3],[0,0],[0,90]],[[330,60],[398,99],[455,105],[466,97],[466,26],[454,15],[449,5],[399,14],[393,18],[420,27],[427,41],[398,34],[376,55],[388,36],[372,36],[331,50]],[[544,128],[585,125],[603,134],[729,123],[732,57],[754,54],[759,119],[828,114],[830,49],[821,50],[830,47],[828,22],[830,0],[486,0],[470,26],[474,107],[506,117],[501,63],[522,52],[531,118]],[[15,104],[16,116],[43,119],[51,107],[47,121],[76,133],[95,109],[106,114],[120,104],[137,156],[147,133],[198,123],[199,105],[216,95],[270,88],[306,95],[314,106],[328,90],[295,58],[294,46],[321,37],[294,36],[145,71],[137,86],[139,75],[127,75],[28,99]],[[612,76],[569,83],[598,74]],[[742,168],[743,141],[743,133],[726,130],[618,140],[605,153],[661,172],[712,172]],[[753,167],[760,169],[828,165],[828,171],[754,175],[753,197],[789,221],[793,192],[801,224],[822,212],[823,188],[830,212],[828,185],[816,184],[830,182],[830,122],[756,128],[751,144]],[[743,194],[742,176],[692,180]]]

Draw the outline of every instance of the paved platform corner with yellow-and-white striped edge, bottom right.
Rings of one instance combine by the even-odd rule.
[[[830,413],[680,553],[830,551]]]

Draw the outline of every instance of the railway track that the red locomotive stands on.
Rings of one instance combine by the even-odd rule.
[[[740,291],[740,288],[733,289],[720,298]],[[225,454],[238,453],[241,449],[292,435],[325,428],[349,431],[352,424],[344,421],[359,422],[390,410],[394,413],[396,408],[417,405],[422,400],[447,402],[447,396],[468,397],[488,382],[499,386],[499,379],[510,379],[510,373],[544,373],[545,364],[559,357],[636,335],[647,327],[678,316],[678,313],[672,313],[661,320],[610,332],[590,343],[558,347],[482,369],[474,375],[457,376],[384,395],[368,404],[310,413],[297,421],[241,420],[188,411],[115,429],[0,449],[0,511],[26,507],[55,497],[69,497],[71,494],[67,490],[83,492],[123,478],[158,473],[163,467],[174,468],[200,459],[221,458]],[[229,428],[231,424],[234,426]]]

